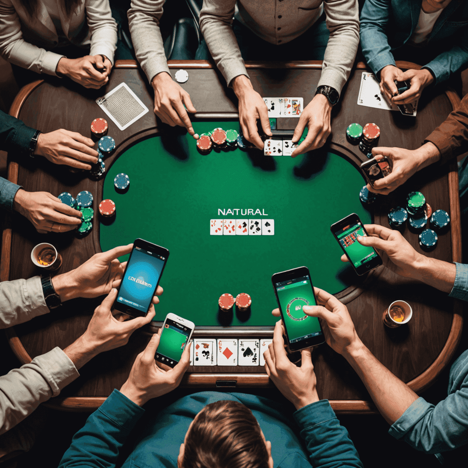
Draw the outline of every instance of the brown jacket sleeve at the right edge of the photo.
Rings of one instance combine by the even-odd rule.
[[[428,141],[439,149],[441,164],[468,151],[468,95],[461,100],[458,109],[451,112],[446,121],[440,124],[424,143]]]

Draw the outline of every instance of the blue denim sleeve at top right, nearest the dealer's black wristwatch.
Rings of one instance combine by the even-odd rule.
[[[366,0],[361,11],[359,36],[362,53],[374,74],[384,66],[395,65],[386,33],[390,8],[390,0]]]

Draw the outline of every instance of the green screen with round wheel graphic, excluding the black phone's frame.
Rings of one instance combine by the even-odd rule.
[[[302,311],[302,306],[317,305],[309,275],[275,282],[274,286],[289,343],[292,345],[323,336],[318,318],[309,317]],[[308,345],[313,344],[315,343]],[[294,346],[291,347],[294,348]]]

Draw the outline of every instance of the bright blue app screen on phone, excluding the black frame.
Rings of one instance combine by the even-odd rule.
[[[120,285],[117,302],[147,312],[165,260],[154,252],[135,247]]]

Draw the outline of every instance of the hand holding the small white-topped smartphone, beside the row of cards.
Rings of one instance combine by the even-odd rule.
[[[156,365],[154,354],[159,345],[161,331],[160,328],[158,333],[151,337],[145,350],[139,353],[127,381],[120,389],[121,393],[139,406],[178,387],[190,364],[191,343],[185,346],[180,361],[173,369],[163,370]]]

